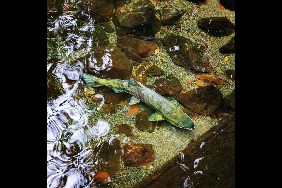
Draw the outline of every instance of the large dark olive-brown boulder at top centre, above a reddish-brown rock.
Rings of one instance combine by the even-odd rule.
[[[118,2],[117,5],[122,6],[117,7],[113,14],[117,36],[154,36],[160,30],[161,23],[150,0],[130,1],[128,4]]]

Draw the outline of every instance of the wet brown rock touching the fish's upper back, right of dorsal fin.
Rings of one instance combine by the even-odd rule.
[[[181,83],[170,74],[167,78],[157,78],[154,84],[147,87],[160,95],[174,95],[181,90]]]

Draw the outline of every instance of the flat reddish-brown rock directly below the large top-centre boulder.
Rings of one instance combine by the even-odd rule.
[[[133,37],[118,37],[117,47],[132,61],[143,62],[141,57],[150,57],[155,53],[157,44]]]

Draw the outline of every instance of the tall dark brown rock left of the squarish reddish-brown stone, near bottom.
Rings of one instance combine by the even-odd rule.
[[[108,172],[111,177],[116,177],[121,162],[120,140],[118,138],[106,140],[93,150],[99,154],[98,171]]]

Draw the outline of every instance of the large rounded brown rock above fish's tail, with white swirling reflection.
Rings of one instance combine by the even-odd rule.
[[[107,45],[84,56],[86,73],[98,78],[124,79],[131,75],[133,66],[116,46]]]

